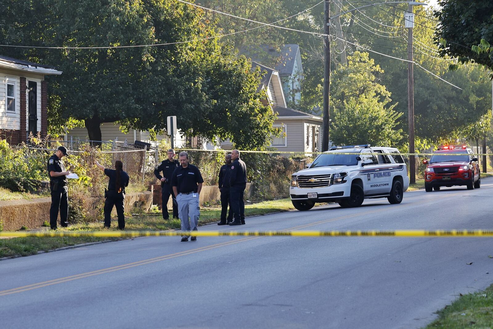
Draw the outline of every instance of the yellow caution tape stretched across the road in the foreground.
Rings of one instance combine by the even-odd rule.
[[[48,231],[0,232],[0,237],[108,237],[138,236],[298,236],[298,237],[493,237],[493,229],[452,230],[348,230],[348,231]]]

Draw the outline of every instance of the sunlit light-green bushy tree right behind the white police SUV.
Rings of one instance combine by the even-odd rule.
[[[378,83],[383,73],[368,53],[358,51],[348,56],[347,67],[340,66],[333,73],[333,144],[396,146],[402,142],[402,130],[396,128],[402,113],[393,110],[396,104],[388,106],[390,93]]]

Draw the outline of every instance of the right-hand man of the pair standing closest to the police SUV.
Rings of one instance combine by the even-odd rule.
[[[243,195],[245,194],[246,188],[246,165],[240,159],[240,151],[237,149],[231,151],[231,158],[233,159],[233,163],[231,164],[229,188],[231,209],[233,210],[235,219],[229,225],[241,225],[245,224],[245,202],[243,201]]]

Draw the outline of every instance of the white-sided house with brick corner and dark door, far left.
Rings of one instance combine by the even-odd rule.
[[[16,145],[29,134],[46,137],[48,94],[45,75],[54,67],[0,56],[0,139]]]

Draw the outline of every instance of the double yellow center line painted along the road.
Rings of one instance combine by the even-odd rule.
[[[451,197],[451,196],[454,196],[454,195],[457,195],[457,194],[460,194],[460,193],[461,192],[454,193],[454,194],[447,194],[447,195],[443,195],[443,196],[440,196],[440,197],[437,197],[437,198],[434,198],[434,199],[431,199],[431,200],[423,200],[423,201],[409,203],[409,204],[405,204],[405,205],[394,206],[391,209],[396,209],[396,208],[402,208],[402,207],[408,207],[408,206],[418,205],[418,204],[421,204],[421,203],[424,203],[424,202],[430,202],[430,201],[435,201],[435,200],[442,199],[442,198],[445,198],[445,197]],[[370,211],[370,212],[364,212],[364,214],[366,215],[366,214],[379,213],[379,212],[386,211],[388,209],[389,208],[377,209],[377,210],[373,210],[373,211]],[[304,224],[304,225],[299,225],[299,226],[294,226],[294,227],[286,228],[286,229],[283,229],[282,231],[296,230],[296,229],[306,228],[306,227],[315,226],[315,225],[318,225],[318,224],[324,224],[324,223],[328,223],[328,222],[332,222],[332,221],[336,221],[336,220],[340,220],[340,219],[347,219],[347,218],[355,217],[355,216],[358,216],[358,215],[361,215],[361,213],[352,214],[352,215],[346,215],[346,216],[341,216],[341,217],[337,217],[337,218],[333,218],[333,219],[319,220],[319,221],[312,222],[312,223],[309,223],[309,224]],[[67,277],[63,277],[63,278],[58,278],[58,279],[53,279],[53,280],[49,280],[49,281],[38,282],[38,283],[27,285],[27,286],[22,286],[22,287],[18,287],[18,288],[13,288],[13,289],[8,289],[8,290],[0,291],[0,296],[9,295],[9,294],[17,293],[17,292],[25,292],[25,291],[29,291],[29,290],[34,290],[34,289],[38,289],[38,288],[43,288],[43,287],[47,287],[47,286],[56,285],[56,284],[59,284],[59,283],[64,283],[64,282],[73,281],[73,280],[77,280],[77,279],[83,279],[83,278],[87,278],[87,277],[94,276],[94,275],[99,275],[99,274],[105,274],[105,273],[109,273],[109,272],[119,271],[119,270],[131,268],[131,267],[135,267],[135,266],[146,265],[146,264],[150,264],[150,263],[153,263],[153,262],[167,260],[167,259],[171,259],[171,258],[175,258],[175,257],[179,257],[179,256],[187,256],[187,255],[199,253],[199,252],[202,252],[202,251],[208,251],[208,250],[216,249],[216,248],[219,248],[219,247],[229,246],[229,245],[237,244],[237,243],[240,243],[240,242],[246,242],[246,241],[258,239],[258,238],[261,238],[261,237],[262,236],[254,236],[254,237],[247,237],[247,238],[242,238],[242,239],[238,239],[238,240],[234,240],[234,241],[229,241],[229,242],[222,242],[222,243],[218,243],[218,244],[214,244],[214,245],[210,245],[210,246],[200,247],[200,248],[197,248],[197,249],[192,249],[192,250],[188,250],[188,251],[178,252],[178,253],[175,253],[175,254],[170,254],[170,255],[165,255],[165,256],[159,256],[159,257],[154,257],[154,258],[149,258],[149,259],[144,259],[144,260],[140,260],[140,261],[136,261],[136,262],[132,262],[132,263],[127,263],[127,264],[123,264],[123,265],[118,265],[118,266],[113,266],[113,267],[107,267],[107,268],[96,270],[96,271],[91,271],[91,272],[86,272],[86,273],[71,275],[71,276],[67,276]]]

